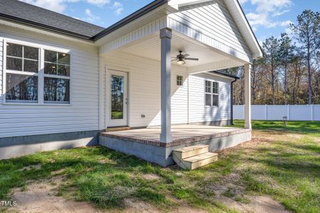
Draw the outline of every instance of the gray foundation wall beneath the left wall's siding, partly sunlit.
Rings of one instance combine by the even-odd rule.
[[[79,131],[36,136],[0,138],[0,160],[39,151],[98,145],[99,131]]]

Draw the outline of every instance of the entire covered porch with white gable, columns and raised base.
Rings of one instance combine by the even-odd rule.
[[[116,124],[108,94],[108,72],[114,70],[128,76],[127,120],[121,124],[131,128],[100,133],[100,144],[166,166],[174,163],[176,148],[206,144],[216,151],[249,141],[251,63],[262,52],[238,1],[168,1],[137,20],[134,16],[126,28],[100,40],[100,90],[107,91],[101,94],[107,99],[100,103],[105,114],[100,129]],[[198,60],[181,62],[181,52]],[[245,129],[204,125],[230,124],[235,79],[213,72],[240,66],[245,67]],[[178,75],[182,87],[176,84]],[[213,82],[221,92],[213,92]],[[218,103],[213,97],[206,103],[206,87],[218,95]]]

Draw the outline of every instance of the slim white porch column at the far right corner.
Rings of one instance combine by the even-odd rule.
[[[245,64],[245,129],[251,129],[251,64]]]

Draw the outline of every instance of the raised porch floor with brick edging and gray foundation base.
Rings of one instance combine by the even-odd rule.
[[[166,167],[174,164],[172,152],[179,148],[207,145],[208,151],[214,152],[251,139],[250,129],[225,126],[173,125],[171,126],[172,140],[169,143],[161,142],[160,133],[161,126],[106,131],[100,133],[99,143]]]

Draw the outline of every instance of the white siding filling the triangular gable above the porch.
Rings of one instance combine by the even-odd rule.
[[[169,14],[168,26],[225,53],[250,60],[251,53],[223,1],[184,6]]]

